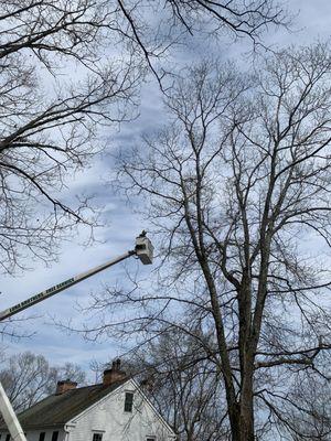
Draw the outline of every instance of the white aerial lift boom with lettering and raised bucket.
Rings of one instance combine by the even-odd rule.
[[[146,232],[142,232],[140,236],[136,238],[136,246],[135,249],[129,250],[125,252],[121,256],[116,257],[115,259],[108,260],[107,262],[99,265],[98,267],[92,268],[87,271],[81,272],[77,276],[74,276],[70,279],[64,280],[61,283],[57,283],[45,291],[39,292],[38,294],[34,294],[30,297],[29,299],[24,300],[21,303],[18,303],[11,308],[8,308],[4,311],[0,312],[0,321],[8,319],[12,315],[18,314],[19,312],[39,303],[42,302],[43,300],[49,299],[52,295],[57,294],[58,292],[73,287],[76,283],[79,283],[81,281],[96,275],[97,272],[103,271],[104,269],[107,269],[109,267],[113,267],[116,263],[119,263],[122,260],[126,260],[127,258],[131,256],[137,256],[140,261],[143,265],[150,265],[152,263],[153,259],[153,246],[149,238],[146,236]],[[26,438],[24,435],[24,432],[21,428],[21,424],[14,413],[14,410],[12,409],[12,406],[4,392],[4,389],[0,383],[0,412],[2,415],[2,418],[8,427],[8,430],[11,434],[11,439],[15,441],[26,441]]]

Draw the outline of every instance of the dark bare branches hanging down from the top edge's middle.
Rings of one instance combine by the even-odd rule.
[[[119,0],[118,8],[127,21],[126,35],[147,60],[162,89],[162,79],[169,72],[164,65],[158,65],[156,58],[173,42],[183,43],[185,34],[204,32],[206,36],[218,37],[222,33],[229,33],[235,40],[249,39],[256,47],[264,46],[263,34],[268,28],[287,28],[291,22],[284,4],[273,0]],[[166,46],[162,44],[164,37]]]

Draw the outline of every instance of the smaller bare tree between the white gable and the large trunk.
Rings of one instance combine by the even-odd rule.
[[[228,439],[220,372],[196,338],[174,329],[164,331],[137,351],[130,363],[142,389],[180,441]]]

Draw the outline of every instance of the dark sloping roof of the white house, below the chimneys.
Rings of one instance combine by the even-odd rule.
[[[23,430],[63,426],[127,380],[116,381],[110,386],[93,385],[67,390],[61,395],[50,395],[19,413],[18,418]],[[2,421],[1,429],[7,430]]]

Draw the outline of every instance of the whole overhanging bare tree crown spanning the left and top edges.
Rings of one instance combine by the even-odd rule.
[[[164,7],[164,14],[159,13]],[[88,196],[60,197],[102,149],[102,125],[129,118],[145,66],[209,20],[254,41],[285,21],[273,1],[9,0],[0,14],[0,266],[49,260],[57,239],[93,224]],[[154,20],[150,20],[154,17]],[[116,61],[117,47],[122,62]],[[109,54],[107,54],[107,52]],[[110,55],[110,57],[108,56]],[[109,62],[110,60],[110,62]],[[160,64],[160,63],[159,63]],[[74,72],[75,75],[71,75]],[[26,261],[26,260],[25,260]]]

